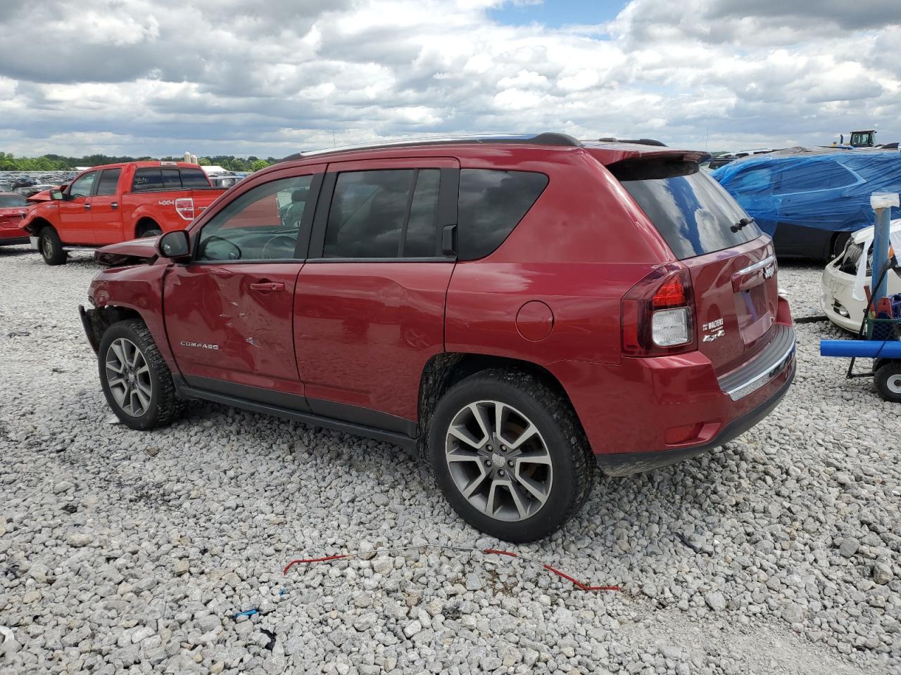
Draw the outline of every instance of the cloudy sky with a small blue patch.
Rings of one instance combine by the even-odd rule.
[[[0,150],[901,139],[899,0],[0,0]]]

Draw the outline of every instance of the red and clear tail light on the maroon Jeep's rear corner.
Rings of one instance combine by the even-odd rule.
[[[696,347],[695,297],[684,265],[654,269],[623,296],[622,311],[625,356],[680,354]]]

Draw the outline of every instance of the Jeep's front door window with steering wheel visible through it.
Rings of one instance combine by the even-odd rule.
[[[195,260],[295,257],[313,175],[282,178],[241,194],[200,231]]]

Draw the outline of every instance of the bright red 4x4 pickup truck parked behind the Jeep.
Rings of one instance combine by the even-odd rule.
[[[69,250],[184,229],[223,192],[195,164],[95,166],[50,191],[50,201],[33,207],[22,227],[45,263],[62,265]]]

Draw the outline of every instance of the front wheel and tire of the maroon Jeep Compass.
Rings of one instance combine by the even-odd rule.
[[[184,409],[172,374],[143,321],[119,321],[106,329],[98,365],[106,402],[124,425],[164,427]]]

